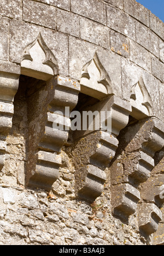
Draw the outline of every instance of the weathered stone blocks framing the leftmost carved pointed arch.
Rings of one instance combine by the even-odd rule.
[[[19,33],[17,33],[19,27]],[[10,26],[10,60],[20,63],[25,48],[34,42],[39,34],[39,27],[26,22],[12,20]],[[68,37],[65,34],[42,28],[45,44],[54,54],[58,72],[68,75]]]

